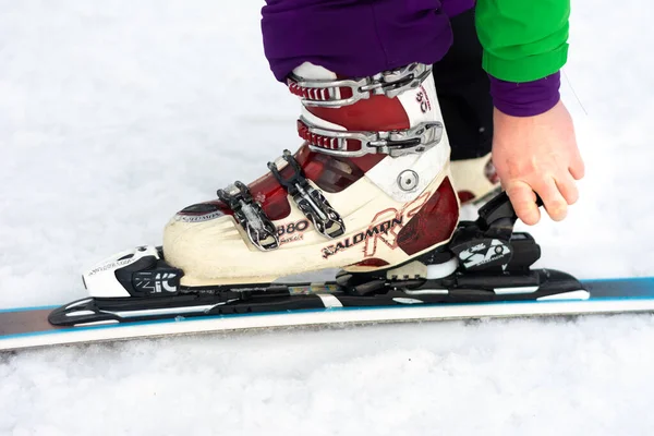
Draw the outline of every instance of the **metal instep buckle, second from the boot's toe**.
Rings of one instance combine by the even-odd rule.
[[[313,223],[318,233],[330,239],[342,235],[346,232],[346,225],[340,215],[327,202],[323,193],[308,183],[302,167],[291,152],[283,150],[282,157],[293,170],[293,174],[288,179],[281,175],[276,164],[268,162],[268,169],[279,184],[292,196],[298,208]]]

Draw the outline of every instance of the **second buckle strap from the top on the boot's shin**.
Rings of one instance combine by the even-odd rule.
[[[440,142],[443,132],[443,123],[438,121],[389,132],[350,132],[319,128],[304,117],[298,120],[298,133],[312,150],[340,157],[367,154],[399,157],[424,153]]]

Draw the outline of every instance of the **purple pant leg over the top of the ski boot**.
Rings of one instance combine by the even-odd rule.
[[[267,0],[262,15],[264,50],[278,81],[303,62],[343,76],[431,64],[452,43],[438,0]]]

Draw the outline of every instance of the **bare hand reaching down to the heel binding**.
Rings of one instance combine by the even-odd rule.
[[[572,118],[559,100],[547,112],[511,117],[495,109],[493,164],[513,209],[525,225],[541,220],[537,193],[549,217],[560,221],[579,197],[584,174]]]

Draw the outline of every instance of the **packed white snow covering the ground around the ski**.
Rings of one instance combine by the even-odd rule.
[[[0,0],[0,307],[83,296],[83,267],[299,145],[261,5]],[[530,229],[543,266],[654,275],[652,13],[573,3],[588,175],[565,222]],[[653,340],[644,315],[0,354],[0,434],[650,435]]]

